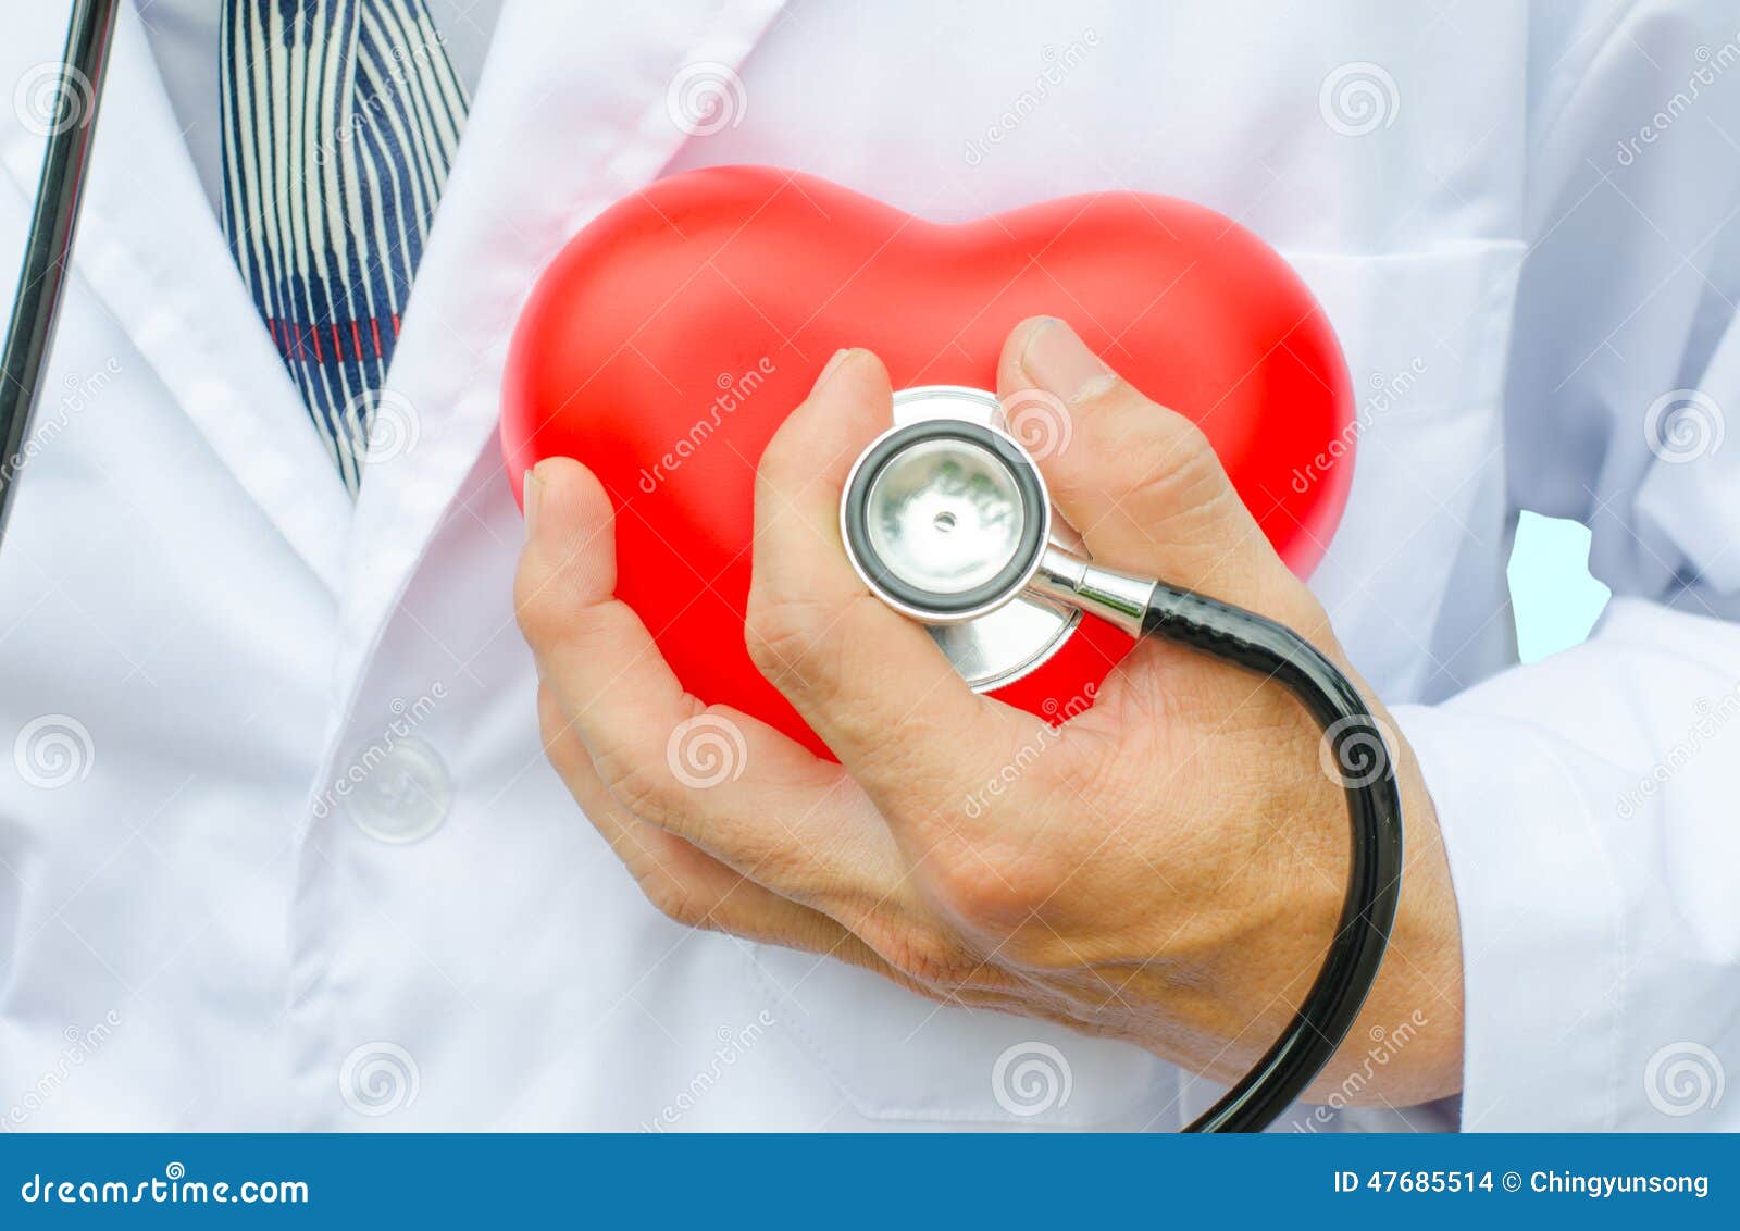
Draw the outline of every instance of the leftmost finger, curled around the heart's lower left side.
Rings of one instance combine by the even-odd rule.
[[[893,842],[840,769],[689,695],[614,586],[604,487],[579,462],[539,462],[515,609],[539,678],[614,800],[786,895],[889,892]]]

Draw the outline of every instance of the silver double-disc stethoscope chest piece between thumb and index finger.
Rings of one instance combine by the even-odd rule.
[[[894,395],[894,426],[858,457],[840,536],[865,584],[920,621],[978,692],[1056,654],[1081,612],[1023,593],[1058,525],[1039,468],[983,389]]]

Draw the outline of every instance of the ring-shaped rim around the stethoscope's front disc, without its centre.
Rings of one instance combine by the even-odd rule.
[[[889,558],[887,544],[877,541],[877,515],[884,508],[879,501],[884,497],[886,480],[901,461],[915,457],[927,445],[954,447],[952,459],[957,466],[995,466],[997,475],[1013,489],[1009,508],[1020,515],[1013,541],[999,553],[1004,558],[1000,563],[992,562],[997,563],[995,572],[954,591],[927,589],[903,576],[901,565]],[[962,532],[971,534],[973,527],[964,527]],[[962,419],[922,419],[889,428],[853,462],[840,497],[840,537],[860,579],[889,607],[931,624],[966,622],[1009,603],[1039,572],[1051,541],[1051,494],[1039,468],[1013,436]]]

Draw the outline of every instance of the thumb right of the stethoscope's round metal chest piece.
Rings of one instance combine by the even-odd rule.
[[[1202,429],[1141,396],[1061,320],[1009,334],[997,396],[1098,563],[1253,610],[1298,584]]]

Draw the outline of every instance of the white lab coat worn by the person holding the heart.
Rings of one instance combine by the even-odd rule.
[[[59,9],[9,7],[0,83],[57,59]],[[1134,1047],[677,928],[545,763],[505,343],[592,216],[719,162],[936,219],[1164,191],[1277,245],[1362,396],[1312,584],[1437,802],[1469,1041],[1460,1102],[1282,1127],[1740,1125],[1740,447],[1688,445],[1695,416],[1693,459],[1646,440],[1662,396],[1710,431],[1740,403],[1737,26],[510,2],[388,381],[414,436],[351,508],[129,10],[0,553],[0,1127],[1174,1128],[1211,1101]],[[696,64],[741,80],[705,136],[666,101]],[[7,278],[38,155],[0,113]],[[1589,520],[1616,591],[1531,668],[1519,506]],[[1352,1047],[1378,1073],[1416,1028]],[[999,1097],[1013,1047],[1067,1097]]]

